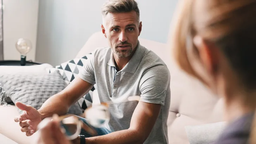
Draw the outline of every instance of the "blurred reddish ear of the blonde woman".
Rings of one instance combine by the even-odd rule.
[[[212,74],[215,73],[219,62],[218,48],[215,48],[213,44],[205,42],[200,36],[194,37],[193,42],[198,49],[199,57],[206,70]]]

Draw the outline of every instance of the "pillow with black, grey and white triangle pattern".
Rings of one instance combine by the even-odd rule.
[[[83,67],[83,65],[87,62],[87,59],[90,58],[92,55],[91,53],[85,55],[82,58],[75,58],[69,61],[66,61],[65,63],[62,63],[55,68],[48,68],[47,71],[49,73],[54,72],[58,70],[60,74],[62,75],[63,79],[66,81],[66,83],[70,83],[73,79],[75,79]],[[90,107],[92,105],[92,93],[96,89],[96,84],[92,87],[92,89],[85,94],[81,99],[78,100],[78,104],[81,107],[81,109],[84,111],[87,109],[87,107]]]

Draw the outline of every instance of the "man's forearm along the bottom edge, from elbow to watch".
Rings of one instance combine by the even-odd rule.
[[[86,144],[143,144],[144,141],[142,133],[131,129],[85,139]]]

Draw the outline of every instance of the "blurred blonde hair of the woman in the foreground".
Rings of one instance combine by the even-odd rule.
[[[205,0],[201,0],[203,3]],[[187,56],[192,37],[200,35],[214,43],[229,60],[248,91],[256,88],[256,0],[207,0],[204,13],[194,19],[194,0],[182,0],[172,27],[171,47],[174,58],[185,72],[205,81],[195,72]],[[194,48],[196,49],[196,48]],[[194,54],[198,54],[194,50]],[[206,84],[206,83],[205,83]],[[255,98],[246,97],[249,101]],[[250,143],[256,144],[256,114],[251,127]]]

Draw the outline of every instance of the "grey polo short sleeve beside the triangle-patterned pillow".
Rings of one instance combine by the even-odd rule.
[[[90,58],[87,59],[86,63],[84,63],[83,67],[78,73],[79,78],[87,81],[90,84],[95,84],[95,73],[94,73],[94,60],[95,60],[95,52],[92,52]]]

